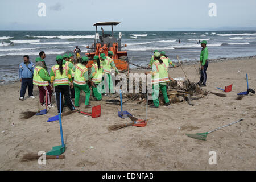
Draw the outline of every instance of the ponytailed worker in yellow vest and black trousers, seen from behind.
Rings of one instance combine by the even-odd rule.
[[[57,100],[57,108],[58,113],[63,112],[63,96],[65,98],[65,102],[67,103],[70,110],[75,110],[73,106],[73,102],[70,97],[69,86],[73,88],[73,80],[71,76],[71,71],[68,66],[63,65],[63,56],[58,55],[56,57],[56,65],[53,65],[51,68],[51,90],[53,90],[53,86],[56,92],[56,100]],[[61,106],[60,106],[60,92],[61,94]]]

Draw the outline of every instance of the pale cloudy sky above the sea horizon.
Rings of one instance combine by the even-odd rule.
[[[38,16],[39,3],[46,16]],[[209,16],[210,3],[216,16]],[[255,0],[1,0],[0,6],[0,30],[94,30],[99,21],[122,22],[115,30],[256,27]]]

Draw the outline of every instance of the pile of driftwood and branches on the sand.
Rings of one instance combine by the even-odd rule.
[[[134,83],[134,89],[135,87],[138,88],[139,86],[139,93],[123,93],[122,94],[122,104],[127,104],[129,102],[137,103],[141,105],[146,105],[146,93],[142,93],[142,88],[146,88],[146,85],[143,85],[142,81],[140,81],[139,85],[135,86]],[[127,90],[129,85],[129,80],[127,79]],[[167,96],[169,98],[170,104],[179,104],[181,102],[187,101],[189,105],[191,104],[191,100],[198,100],[200,98],[203,98],[208,94],[207,91],[196,85],[196,83],[185,80],[183,82],[183,86],[180,86],[177,84],[177,81],[174,80],[172,82],[169,82],[167,85]],[[110,95],[109,95],[110,96]],[[112,94],[111,96],[112,100],[106,100],[106,104],[117,104],[120,105],[119,100],[119,93]],[[151,104],[152,100],[148,100],[148,104]],[[159,90],[159,105],[164,104],[164,97],[162,92]]]

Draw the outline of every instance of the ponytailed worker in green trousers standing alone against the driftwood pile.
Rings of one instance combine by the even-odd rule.
[[[166,106],[170,105],[168,96],[167,96],[167,89],[166,85],[167,82],[169,82],[168,73],[166,70],[166,65],[163,63],[162,59],[160,59],[160,53],[155,52],[154,53],[154,63],[152,64],[152,70],[150,72],[145,72],[145,74],[151,74],[152,75],[152,84],[153,84],[153,102],[154,105],[151,105],[152,108],[158,108],[159,107],[159,89],[161,89],[164,97],[164,102]]]

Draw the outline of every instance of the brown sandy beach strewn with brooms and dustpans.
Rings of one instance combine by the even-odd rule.
[[[199,81],[195,67],[183,66],[193,82]],[[194,106],[184,102],[150,108],[148,118],[154,119],[146,127],[130,126],[109,132],[109,125],[128,123],[130,119],[118,117],[119,106],[105,104],[110,97],[90,101],[93,106],[101,104],[101,117],[79,113],[64,116],[66,158],[47,160],[46,165],[20,160],[28,152],[49,151],[61,144],[59,121],[46,122],[57,115],[57,108],[53,107],[46,115],[20,119],[22,111],[42,110],[37,86],[34,86],[36,98],[28,98],[26,91],[25,100],[20,101],[20,82],[1,85],[0,170],[256,170],[256,96],[250,93],[236,100],[237,93],[247,89],[246,73],[249,87],[256,89],[255,68],[255,57],[209,62],[204,89],[224,93],[216,87],[233,84],[232,92],[226,93],[227,97],[208,94],[193,100]],[[142,72],[142,69],[132,72]],[[180,67],[170,69],[170,75],[184,77]],[[54,96],[52,100],[55,101]],[[85,94],[81,93],[81,106],[84,100]],[[124,104],[123,109],[134,117],[145,117],[146,106],[136,102]],[[84,107],[80,110],[90,111]],[[243,121],[209,134],[207,141],[185,135],[207,132],[238,119]],[[216,151],[217,164],[209,164],[210,151]]]

